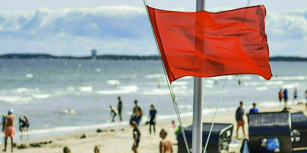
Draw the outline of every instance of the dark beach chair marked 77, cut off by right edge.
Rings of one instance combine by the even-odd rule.
[[[307,152],[307,117],[304,113],[291,113],[293,152]]]

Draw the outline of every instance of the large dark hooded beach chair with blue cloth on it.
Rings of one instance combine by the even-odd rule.
[[[251,153],[292,153],[289,112],[248,114]]]

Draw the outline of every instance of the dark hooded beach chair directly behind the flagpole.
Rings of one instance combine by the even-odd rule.
[[[202,148],[204,149],[212,123],[203,123]],[[206,153],[220,153],[222,150],[228,151],[231,142],[233,125],[215,123],[212,128],[211,136],[208,142]],[[192,125],[184,128],[185,136],[190,151],[192,151]],[[187,153],[187,148],[183,139],[181,130],[177,132],[178,153]],[[203,152],[204,150],[202,150]]]

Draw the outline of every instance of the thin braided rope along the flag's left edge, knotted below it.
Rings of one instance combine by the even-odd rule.
[[[147,16],[148,16],[148,19],[149,19],[149,22],[150,22],[151,30],[153,32],[153,26],[151,24],[149,13],[148,13],[148,10],[147,10],[147,7],[146,7],[147,6],[147,2],[146,2],[146,0],[143,0],[143,1],[144,1],[144,5],[145,5],[145,8],[146,8]],[[179,126],[180,126],[180,129],[181,129],[182,135],[183,135],[183,139],[185,141],[185,146],[186,146],[186,149],[187,149],[188,153],[190,153],[190,149],[188,147],[188,142],[187,142],[187,139],[185,137],[185,131],[183,130],[183,126],[182,126],[182,122],[181,122],[181,118],[180,118],[180,114],[179,114],[179,110],[178,110],[178,106],[177,106],[176,94],[173,91],[172,85],[169,84],[169,80],[168,80],[166,72],[165,72],[165,67],[163,65],[162,57],[161,57],[161,54],[160,54],[160,50],[159,50],[157,39],[156,39],[156,36],[155,36],[154,32],[153,32],[153,37],[154,37],[155,42],[156,42],[156,46],[157,46],[158,53],[159,53],[159,56],[160,56],[160,60],[161,60],[161,64],[162,64],[162,67],[163,67],[163,71],[164,71],[164,75],[165,75],[165,78],[166,78],[166,82],[167,82],[167,85],[169,87],[169,92],[170,92],[172,100],[173,100],[173,104],[174,104],[175,111],[176,111],[176,114],[177,114],[177,118],[178,118],[178,121],[179,121]]]

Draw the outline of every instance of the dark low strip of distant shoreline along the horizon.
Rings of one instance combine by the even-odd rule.
[[[97,59],[97,60],[160,60],[158,55],[139,56],[139,55],[97,55],[91,56],[54,56],[50,54],[4,54],[0,59]],[[302,61],[307,62],[307,58],[276,56],[270,57],[270,61]]]

